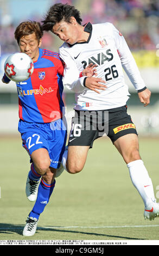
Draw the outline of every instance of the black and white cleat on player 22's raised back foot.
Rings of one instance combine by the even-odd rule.
[[[30,202],[34,202],[36,200],[39,182],[39,180],[30,180],[28,174],[26,183],[26,195]]]

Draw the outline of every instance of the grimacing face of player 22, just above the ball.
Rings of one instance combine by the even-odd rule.
[[[38,42],[35,33],[22,36],[19,42],[21,52],[27,53],[33,62],[35,62],[39,57],[40,46],[41,39],[40,42]]]

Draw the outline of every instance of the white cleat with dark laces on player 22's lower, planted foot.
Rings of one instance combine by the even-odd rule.
[[[37,218],[33,218],[33,217],[28,217],[27,221],[26,221],[26,225],[23,229],[23,235],[24,236],[32,236],[35,234],[36,232],[36,227],[37,227],[37,222],[39,220],[37,220]]]

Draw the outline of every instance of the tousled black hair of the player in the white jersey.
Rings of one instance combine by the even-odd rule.
[[[80,12],[74,8],[73,5],[68,4],[54,4],[49,8],[44,20],[42,21],[43,31],[52,31],[53,26],[60,21],[70,22],[70,18],[75,17],[77,22],[81,25],[82,19],[80,17]]]

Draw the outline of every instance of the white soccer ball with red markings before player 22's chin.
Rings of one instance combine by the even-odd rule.
[[[13,53],[5,60],[4,71],[10,80],[23,82],[33,74],[33,60],[26,53]]]

